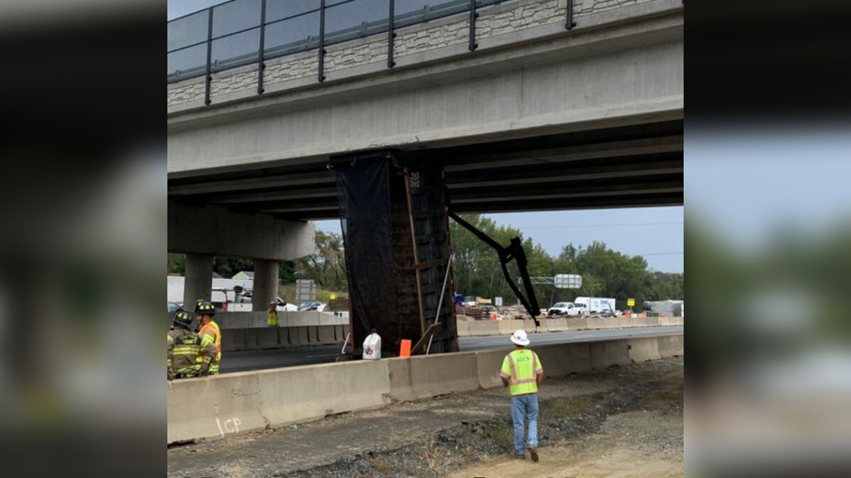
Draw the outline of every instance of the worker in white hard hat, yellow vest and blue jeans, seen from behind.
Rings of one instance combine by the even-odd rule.
[[[514,422],[514,458],[526,458],[523,442],[523,420],[528,422],[528,451],[538,461],[538,385],[544,378],[538,354],[528,350],[526,331],[517,329],[511,335],[514,350],[502,361],[500,378],[511,390],[511,420]]]

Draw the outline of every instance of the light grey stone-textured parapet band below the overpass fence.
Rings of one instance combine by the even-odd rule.
[[[517,42],[509,34],[527,32],[524,39],[545,37],[565,30],[568,1],[572,1],[576,28],[590,28],[646,14],[642,3],[653,0],[515,0],[480,9],[475,39],[482,48],[497,48],[505,39]],[[679,2],[677,2],[679,3]],[[607,14],[608,13],[608,14]],[[549,28],[546,28],[549,27]],[[396,30],[393,55],[397,67],[416,65],[457,54],[470,54],[469,14],[455,14]],[[358,38],[325,48],[324,74],[328,80],[374,74],[388,69],[386,32]],[[263,83],[267,93],[300,88],[317,83],[317,50],[266,60]],[[371,66],[371,67],[370,67]],[[183,111],[203,106],[205,80],[192,78],[168,85],[168,110]],[[257,94],[257,65],[215,72],[210,82],[213,104]]]

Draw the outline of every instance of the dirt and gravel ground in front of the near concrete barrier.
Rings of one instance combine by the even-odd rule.
[[[683,475],[683,357],[545,379],[540,461],[511,459],[505,389],[443,395],[168,449],[168,476]]]

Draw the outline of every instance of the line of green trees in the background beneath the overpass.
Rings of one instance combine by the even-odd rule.
[[[583,296],[612,297],[617,300],[621,310],[626,308],[626,299],[630,298],[636,299],[639,308],[644,300],[685,299],[683,273],[648,270],[647,261],[643,257],[619,253],[608,248],[604,242],[591,242],[586,247],[568,243],[561,253],[553,257],[516,228],[497,225],[493,219],[481,214],[465,214],[463,218],[503,246],[507,246],[511,238],[520,237],[530,276],[582,276],[582,287],[579,289],[535,285],[535,295],[542,309],[558,301]],[[450,221],[449,230],[454,253],[455,290],[464,295],[502,297],[504,304],[514,304],[516,299],[505,282],[496,251],[454,221]],[[168,254],[168,272],[183,274],[185,269],[186,256]],[[250,259],[216,257],[213,270],[220,276],[231,277],[240,270],[254,270],[254,265]],[[512,261],[508,270],[511,280],[517,283],[520,274],[516,263]],[[282,284],[294,284],[296,279],[304,278],[312,279],[318,287],[328,290],[348,290],[342,236],[317,230],[314,252],[295,261],[281,261],[279,278]]]

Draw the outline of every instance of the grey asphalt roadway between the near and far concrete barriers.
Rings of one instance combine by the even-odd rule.
[[[612,330],[584,330],[580,332],[531,333],[531,346],[564,344],[568,342],[593,342],[601,339],[628,339],[652,335],[683,333],[683,326],[620,328]],[[508,336],[461,337],[458,339],[462,352],[471,350],[510,350],[513,344]],[[247,372],[265,368],[294,367],[336,361],[341,345],[320,345],[294,349],[253,350],[223,354],[220,373]]]

